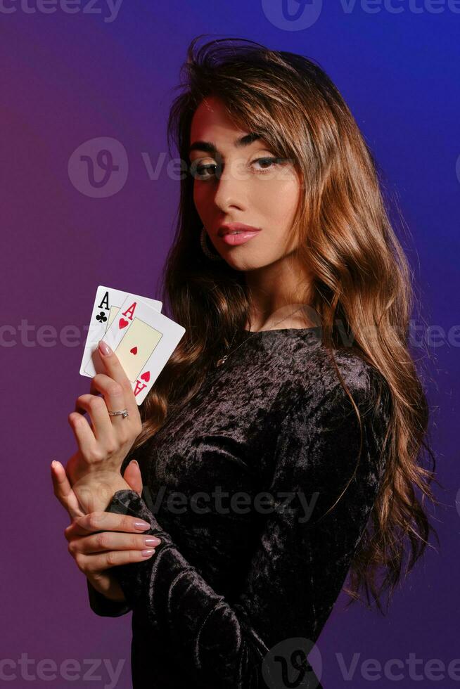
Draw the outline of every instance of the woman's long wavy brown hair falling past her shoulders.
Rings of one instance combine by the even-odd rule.
[[[250,322],[244,276],[224,260],[205,256],[203,224],[193,203],[191,120],[203,98],[216,96],[234,122],[262,133],[274,155],[293,160],[300,179],[307,180],[293,233],[297,255],[312,276],[306,292],[321,318],[322,342],[333,358],[345,335],[352,342],[347,346],[378,369],[390,389],[385,474],[350,567],[350,588],[344,589],[348,605],[361,600],[363,589],[367,605],[373,598],[383,612],[381,595],[388,591],[390,602],[407,541],[404,574],[430,545],[430,530],[436,534],[424,503],[437,501],[430,489],[435,457],[428,444],[428,404],[409,352],[414,288],[385,210],[380,172],[338,89],[314,60],[245,39],[199,46],[200,39],[189,46],[167,125],[170,155],[174,142],[187,172],[160,292],[186,332],[141,406],[143,430],[127,459],[159,430],[167,413],[177,413],[198,392],[234,333]],[[423,451],[430,468],[423,466]]]

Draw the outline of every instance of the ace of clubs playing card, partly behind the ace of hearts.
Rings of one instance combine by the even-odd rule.
[[[98,361],[98,357],[94,352],[97,352],[99,340],[103,340],[106,331],[112,325],[113,319],[117,316],[120,306],[129,293],[115,290],[111,287],[104,287],[103,285],[98,286],[91,313],[91,321],[89,322],[87,341],[84,345],[82,364],[79,371],[80,375],[87,375],[89,378],[93,378],[96,373],[103,373],[105,371],[103,364],[100,360]],[[162,309],[162,302],[156,299],[148,299],[148,297],[139,297],[138,295],[132,296],[136,297],[139,302],[149,304],[156,311],[161,311]]]

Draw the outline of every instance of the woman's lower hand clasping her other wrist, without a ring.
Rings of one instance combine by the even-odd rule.
[[[123,515],[115,515],[112,513],[90,513],[85,515],[82,508],[79,506],[77,496],[75,495],[70,483],[68,482],[65,469],[60,462],[55,462],[51,465],[51,477],[53,480],[54,494],[61,505],[68,511],[72,524],[65,529],[65,538],[69,541],[69,553],[75,558],[77,566],[80,571],[86,574],[87,579],[91,585],[106,596],[110,600],[125,600],[124,593],[120,584],[113,574],[108,572],[108,568],[114,565],[124,564],[124,560],[120,558],[128,558],[127,562],[138,562],[139,553],[141,549],[149,548],[146,546],[143,536],[134,536],[128,534],[112,534],[110,530],[129,532],[129,534],[139,534],[140,530],[148,529],[146,524],[145,529],[136,529],[135,522],[139,522],[135,517],[128,517]],[[124,479],[130,485],[132,490],[136,491],[139,496],[142,494],[142,477],[137,462],[132,461],[124,471]],[[106,516],[108,518],[106,518]],[[80,517],[84,517],[80,519]],[[85,519],[88,522],[85,522]],[[89,540],[91,534],[91,527],[99,531],[103,526],[108,529],[107,532],[99,532],[100,539],[113,539],[111,541],[112,550],[99,550],[97,553],[91,548],[94,548],[94,541]],[[83,531],[83,533],[82,533]],[[81,535],[78,535],[78,534]],[[104,534],[104,536],[102,536]],[[109,535],[108,535],[109,534]],[[121,538],[120,538],[121,537]],[[94,536],[91,536],[94,539]],[[85,541],[85,539],[87,539]],[[133,542],[127,539],[134,539]],[[104,545],[104,544],[102,544]],[[99,541],[101,547],[101,541]],[[155,550],[153,551],[155,552]],[[95,558],[95,555],[98,558]],[[151,553],[153,555],[153,553]],[[85,559],[86,558],[86,559]],[[106,561],[101,558],[106,558]],[[134,558],[134,559],[133,559]],[[141,558],[144,560],[146,558]],[[104,567],[105,564],[105,567]]]

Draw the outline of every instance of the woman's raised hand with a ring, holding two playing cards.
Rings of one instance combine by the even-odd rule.
[[[104,510],[113,494],[127,488],[120,467],[142,430],[141,416],[131,382],[116,354],[103,354],[106,373],[96,373],[89,394],[77,398],[68,421],[75,434],[78,451],[66,465],[66,473],[80,505],[87,513]],[[106,345],[105,345],[106,346]],[[98,392],[103,397],[98,396]],[[127,418],[109,416],[109,411],[126,408]],[[89,413],[92,425],[82,416]]]

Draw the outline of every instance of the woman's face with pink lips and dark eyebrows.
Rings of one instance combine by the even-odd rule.
[[[238,145],[237,140],[248,134],[235,127],[215,97],[200,103],[191,122],[196,210],[217,252],[243,271],[268,266],[295,248],[292,241],[288,243],[288,231],[300,195],[293,165],[276,158],[266,141]],[[260,231],[245,243],[230,245],[218,232],[222,224],[234,222]]]

